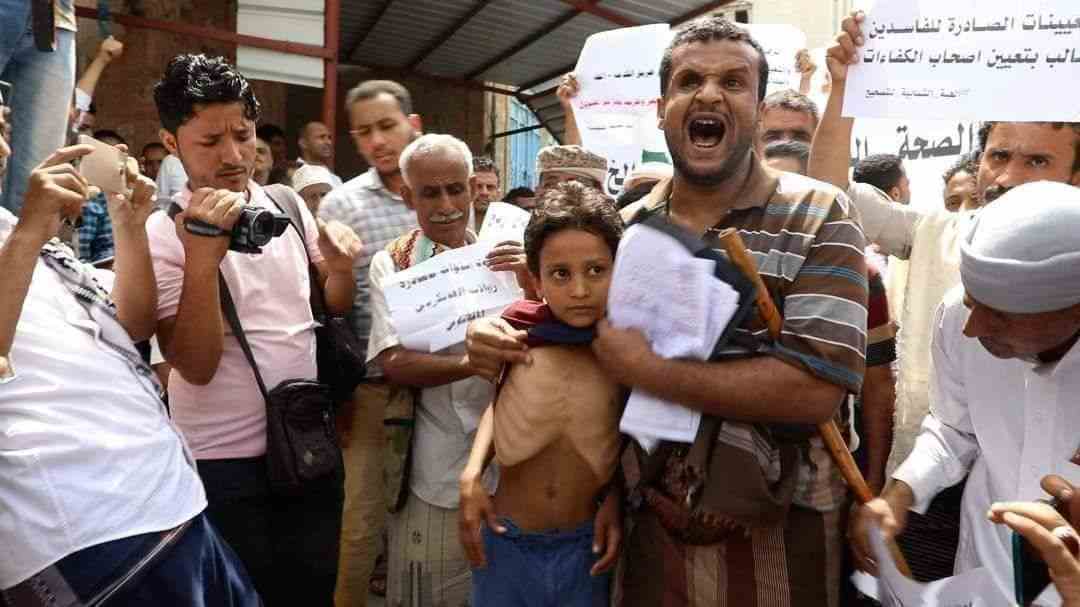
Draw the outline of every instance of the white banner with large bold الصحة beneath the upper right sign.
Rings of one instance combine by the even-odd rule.
[[[958,120],[855,120],[851,163],[877,153],[896,154],[910,180],[912,205],[943,206],[942,175],[978,148],[978,122]]]

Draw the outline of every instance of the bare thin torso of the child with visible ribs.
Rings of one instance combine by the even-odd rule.
[[[534,348],[495,406],[496,510],[527,530],[592,520],[619,456],[618,386],[588,346]]]

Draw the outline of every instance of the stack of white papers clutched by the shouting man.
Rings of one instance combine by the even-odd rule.
[[[626,230],[616,255],[608,319],[636,328],[665,359],[704,361],[739,309],[739,293],[674,238],[649,228]],[[646,450],[660,441],[693,442],[701,413],[634,390],[619,429]]]

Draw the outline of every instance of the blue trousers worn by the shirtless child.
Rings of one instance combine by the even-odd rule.
[[[590,576],[592,521],[570,531],[507,532],[484,527],[487,566],[473,569],[473,607],[607,607],[611,576]]]

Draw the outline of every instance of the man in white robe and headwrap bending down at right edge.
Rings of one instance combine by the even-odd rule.
[[[930,415],[881,498],[856,511],[852,548],[875,569],[869,523],[894,536],[970,473],[955,569],[987,567],[1011,597],[1009,530],[987,521],[990,504],[1041,498],[1045,474],[1080,482],[1080,189],[1038,181],[983,208],[960,279],[934,321]]]

